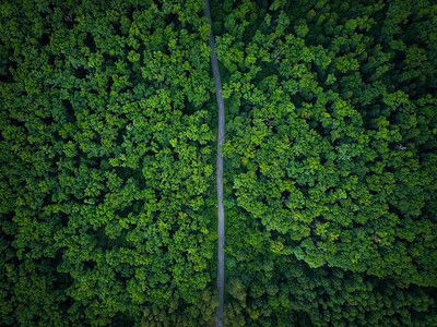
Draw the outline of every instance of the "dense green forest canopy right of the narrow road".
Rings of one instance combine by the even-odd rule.
[[[233,1],[231,326],[437,324],[436,10]]]

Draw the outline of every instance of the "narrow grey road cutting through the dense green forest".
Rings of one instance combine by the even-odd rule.
[[[220,147],[225,142],[225,105],[222,97],[222,80],[220,78],[217,55],[215,53],[214,46],[214,34],[212,32],[212,20],[210,12],[210,3],[204,0],[205,3],[205,16],[208,17],[211,25],[210,34],[210,48],[211,48],[211,65],[215,82],[215,95],[217,97],[218,105],[218,140],[217,140],[217,206],[218,206],[218,265],[217,265],[217,290],[218,290],[218,307],[217,307],[217,327],[223,326],[223,293],[224,293],[224,252],[223,246],[225,244],[225,210],[223,208],[223,157]]]

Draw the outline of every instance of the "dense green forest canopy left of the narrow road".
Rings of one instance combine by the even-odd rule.
[[[202,2],[0,12],[1,325],[213,319]]]

